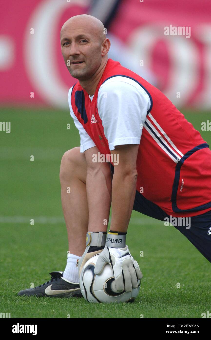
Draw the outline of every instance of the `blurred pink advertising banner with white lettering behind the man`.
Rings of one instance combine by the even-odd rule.
[[[68,89],[77,80],[65,66],[60,30],[74,15],[98,13],[109,23],[109,57],[153,79],[176,106],[210,109],[210,0],[113,4],[108,20],[102,1],[93,12],[90,0],[1,0],[1,104],[67,108]]]

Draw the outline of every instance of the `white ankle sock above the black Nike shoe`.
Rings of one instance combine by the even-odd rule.
[[[79,283],[78,261],[80,258],[81,256],[70,253],[67,254],[67,265],[64,270],[63,277],[70,282]]]

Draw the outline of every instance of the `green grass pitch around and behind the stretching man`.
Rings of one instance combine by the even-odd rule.
[[[211,145],[211,133],[201,131],[201,122],[210,119],[210,113],[183,113]],[[127,244],[143,279],[133,304],[17,296],[31,283],[37,286],[49,280],[51,271],[65,268],[68,244],[59,169],[64,152],[80,145],[80,139],[68,111],[1,108],[0,121],[11,122],[9,134],[0,131],[0,312],[10,312],[11,318],[67,318],[68,314],[70,318],[140,318],[141,314],[201,318],[211,311],[210,262],[173,226],[135,211]]]

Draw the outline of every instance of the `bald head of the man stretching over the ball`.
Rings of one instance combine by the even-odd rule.
[[[103,23],[88,14],[76,15],[62,26],[63,58],[72,77],[89,80],[105,64],[110,41]]]

